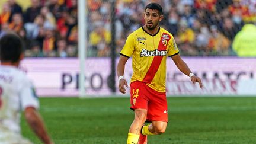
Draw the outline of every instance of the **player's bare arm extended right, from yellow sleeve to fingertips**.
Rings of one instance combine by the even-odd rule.
[[[191,70],[188,68],[187,64],[181,59],[180,55],[172,56],[172,60],[174,61],[175,65],[180,69],[181,72],[183,72],[185,75],[190,76]],[[201,79],[196,75],[190,76],[191,81],[193,84],[196,84],[196,82],[199,83],[200,88],[203,88],[203,84],[201,82]]]

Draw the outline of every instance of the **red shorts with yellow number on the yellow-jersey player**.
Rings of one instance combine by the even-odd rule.
[[[157,92],[144,82],[135,81],[130,84],[131,109],[148,110],[146,121],[168,122],[168,108],[165,92]]]

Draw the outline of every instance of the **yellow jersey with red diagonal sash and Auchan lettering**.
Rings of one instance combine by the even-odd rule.
[[[131,57],[131,82],[142,81],[158,92],[165,92],[166,59],[179,53],[174,37],[164,28],[155,35],[143,27],[133,31],[126,40],[120,55]]]

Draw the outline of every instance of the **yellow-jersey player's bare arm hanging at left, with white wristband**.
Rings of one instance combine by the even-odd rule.
[[[127,81],[120,76],[124,75],[124,68],[128,59],[128,57],[120,56],[119,63],[117,64],[117,76],[119,77],[119,91],[123,94],[126,93],[126,88],[124,87],[124,85],[128,88],[128,84]]]

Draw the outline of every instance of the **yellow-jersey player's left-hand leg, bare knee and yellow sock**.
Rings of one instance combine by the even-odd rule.
[[[129,133],[127,143],[138,143],[140,129],[146,121],[147,110],[145,109],[136,109],[135,110],[135,119],[133,120]]]

